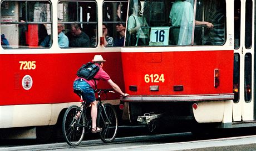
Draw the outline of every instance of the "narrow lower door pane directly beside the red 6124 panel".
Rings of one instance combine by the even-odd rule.
[[[238,53],[234,54],[234,71],[233,71],[233,92],[234,92],[234,102],[239,102],[240,93],[240,55]]]

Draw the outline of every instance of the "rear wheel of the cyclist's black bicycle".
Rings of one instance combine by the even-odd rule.
[[[79,145],[85,135],[86,119],[83,113],[80,115],[80,119],[76,119],[78,111],[80,111],[78,106],[68,107],[62,121],[63,136],[67,144],[71,146]]]

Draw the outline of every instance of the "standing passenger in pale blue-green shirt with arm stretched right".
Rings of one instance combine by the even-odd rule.
[[[172,44],[190,45],[193,32],[194,9],[190,2],[186,0],[176,0],[170,11],[170,24],[172,28]],[[206,25],[212,29],[213,24],[195,20],[195,25]]]

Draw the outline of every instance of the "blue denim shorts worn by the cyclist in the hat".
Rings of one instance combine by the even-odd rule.
[[[86,100],[86,102],[93,102],[95,101],[95,93],[93,91],[93,88],[85,81],[82,79],[78,79],[74,81],[73,83],[73,89],[75,88],[80,88],[83,91],[83,100]]]

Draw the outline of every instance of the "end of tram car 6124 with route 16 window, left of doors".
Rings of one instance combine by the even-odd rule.
[[[170,123],[222,122],[224,112],[232,112],[234,39],[229,3],[129,1],[121,55],[130,96],[121,102],[129,107],[132,122],[166,117]],[[143,122],[144,118],[150,120]]]

